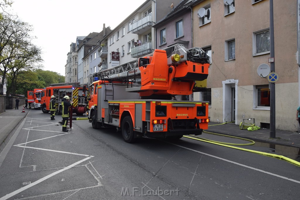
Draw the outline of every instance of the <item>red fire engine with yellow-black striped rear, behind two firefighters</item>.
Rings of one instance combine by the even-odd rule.
[[[83,92],[83,87],[86,85],[80,85],[79,83],[57,83],[51,84],[45,89],[45,96],[41,100],[41,109],[44,113],[49,112],[49,103],[52,95],[55,96],[56,108],[58,114],[61,114],[61,100],[64,96],[69,96],[70,101],[73,101],[73,113],[76,115],[82,115],[87,109],[87,90]]]

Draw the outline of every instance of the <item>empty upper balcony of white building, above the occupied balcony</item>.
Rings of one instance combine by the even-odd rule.
[[[152,26],[152,13],[148,13],[141,18],[130,23],[131,33],[142,34],[149,31]]]

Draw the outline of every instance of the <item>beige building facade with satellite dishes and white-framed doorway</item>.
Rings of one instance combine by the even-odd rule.
[[[269,81],[268,76],[263,78],[258,72],[264,70],[259,69],[261,64],[270,66],[270,2],[235,0],[230,5],[224,2],[206,0],[192,8],[193,46],[201,47],[211,56],[207,79],[211,91],[210,120],[239,124],[243,119],[254,118],[257,126],[268,128]],[[274,0],[273,5],[274,63],[278,74],[275,127],[296,132],[298,3]],[[193,95],[194,100],[202,97],[202,93]]]

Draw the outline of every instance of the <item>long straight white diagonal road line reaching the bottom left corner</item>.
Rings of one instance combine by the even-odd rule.
[[[7,195],[1,197],[0,200],[8,199],[8,198],[10,198],[10,197],[12,197],[12,196],[14,196],[14,195],[16,195],[16,194],[18,194],[18,193],[24,191],[24,190],[27,190],[28,188],[30,188],[30,187],[32,187],[32,186],[35,186],[35,185],[41,183],[42,181],[47,180],[48,178],[51,178],[52,176],[57,175],[57,174],[59,174],[60,172],[63,172],[63,171],[65,171],[65,170],[67,170],[67,169],[70,169],[70,168],[72,168],[72,167],[78,165],[79,163],[82,163],[82,162],[84,162],[85,160],[88,160],[88,159],[90,159],[90,158],[91,158],[91,157],[86,157],[86,158],[84,158],[84,159],[82,159],[82,160],[79,160],[79,161],[76,162],[76,163],[73,163],[72,165],[69,165],[69,166],[65,167],[64,169],[60,169],[60,170],[58,170],[58,171],[56,171],[56,172],[53,172],[52,174],[49,174],[49,175],[45,176],[44,178],[39,179],[38,181],[35,181],[35,182],[33,182],[33,183],[29,184],[29,185],[26,185],[26,186],[20,188],[19,190],[16,190],[16,191],[14,191],[14,192],[12,192],[12,193],[9,193],[9,194],[7,194]]]

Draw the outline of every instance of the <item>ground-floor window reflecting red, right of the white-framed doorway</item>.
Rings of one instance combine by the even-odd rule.
[[[254,108],[270,107],[270,89],[269,85],[256,85],[256,106]]]

